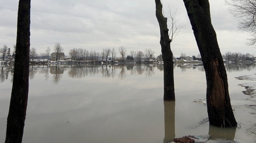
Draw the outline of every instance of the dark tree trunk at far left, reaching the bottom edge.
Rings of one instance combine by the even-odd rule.
[[[18,9],[13,89],[7,118],[6,143],[22,142],[28,99],[30,60],[30,0],[20,0]]]

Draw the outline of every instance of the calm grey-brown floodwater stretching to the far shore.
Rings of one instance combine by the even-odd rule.
[[[255,68],[226,65],[238,126],[225,129],[207,122],[206,80],[200,65],[175,65],[175,102],[163,101],[163,65],[31,66],[23,142],[163,143],[188,135],[255,142],[256,99],[243,91],[256,81],[235,78],[255,76]],[[13,67],[2,66],[0,73],[4,142]]]

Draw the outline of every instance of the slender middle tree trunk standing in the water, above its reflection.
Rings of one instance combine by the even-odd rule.
[[[171,40],[167,28],[167,18],[162,13],[162,3],[155,0],[156,18],[160,27],[160,45],[164,62],[164,101],[175,101],[174,92],[174,62],[172,60]]]

